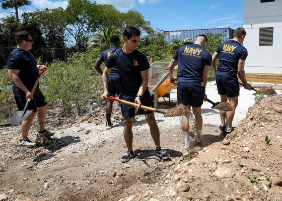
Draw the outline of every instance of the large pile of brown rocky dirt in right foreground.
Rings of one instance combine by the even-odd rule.
[[[282,200],[281,109],[281,95],[262,99],[223,142],[188,151],[121,200]]]

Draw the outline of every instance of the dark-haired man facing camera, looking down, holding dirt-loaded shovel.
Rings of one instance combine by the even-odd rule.
[[[116,50],[106,62],[102,75],[104,93],[102,97],[108,95],[108,77],[111,69],[116,66],[121,83],[120,99],[138,104],[139,114],[144,114],[150,127],[151,135],[156,145],[156,154],[162,159],[167,159],[170,155],[160,147],[160,130],[156,123],[152,111],[140,109],[141,105],[153,106],[153,100],[148,90],[149,62],[146,56],[136,50],[140,39],[140,31],[134,27],[126,27],[123,32],[124,44],[122,49]],[[132,158],[133,147],[133,117],[135,108],[120,103],[121,113],[124,118],[123,135],[127,146],[127,152],[121,157],[121,162],[127,162]]]

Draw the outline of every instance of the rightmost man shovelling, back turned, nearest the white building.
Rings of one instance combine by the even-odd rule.
[[[233,39],[221,44],[213,55],[212,67],[216,72],[216,81],[218,92],[221,96],[221,102],[229,101],[233,108],[233,110],[229,112],[220,111],[220,129],[224,136],[234,130],[234,128],[232,128],[232,122],[238,105],[240,90],[237,73],[243,82],[244,88],[251,90],[251,85],[246,80],[244,70],[248,51],[242,44],[246,34],[245,29],[237,28],[234,31]],[[217,59],[219,59],[218,66]]]

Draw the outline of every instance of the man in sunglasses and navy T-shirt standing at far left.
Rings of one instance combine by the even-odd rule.
[[[17,47],[15,47],[8,57],[7,68],[9,77],[12,80],[13,92],[18,109],[23,110],[27,99],[32,98],[28,109],[33,110],[33,113],[31,113],[30,116],[22,122],[22,136],[18,145],[24,147],[34,147],[36,143],[33,143],[28,139],[28,132],[37,111],[39,131],[36,134],[36,137],[50,137],[54,135],[53,131],[45,129],[48,105],[44,95],[39,89],[39,85],[37,85],[33,95],[30,92],[32,91],[33,85],[38,77],[38,71],[43,70],[46,66],[37,65],[36,60],[29,52],[33,44],[30,33],[26,31],[17,32],[15,39]]]

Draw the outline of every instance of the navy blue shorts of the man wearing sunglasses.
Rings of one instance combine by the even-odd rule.
[[[16,104],[19,110],[24,110],[26,105],[26,97],[25,96],[19,96],[15,97]],[[33,112],[37,112],[37,108],[46,106],[47,102],[43,95],[43,93],[40,91],[38,95],[33,95],[33,99],[30,100],[30,103],[28,105],[28,109],[33,110]]]

